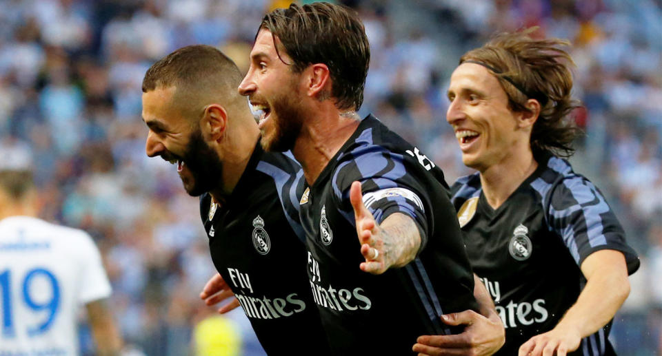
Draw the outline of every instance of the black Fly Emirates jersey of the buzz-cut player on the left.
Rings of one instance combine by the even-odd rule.
[[[305,272],[294,183],[302,175],[293,158],[258,144],[222,205],[212,205],[209,193],[200,198],[214,266],[268,355],[328,354]]]

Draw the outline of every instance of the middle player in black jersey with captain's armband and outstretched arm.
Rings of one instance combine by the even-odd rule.
[[[239,92],[263,111],[265,150],[292,149],[303,167],[308,278],[332,353],[405,355],[419,335],[458,332],[440,317],[477,309],[474,276],[441,170],[356,114],[369,60],[354,12],[292,5],[263,18]],[[496,313],[468,313],[496,330],[485,353],[498,348]]]

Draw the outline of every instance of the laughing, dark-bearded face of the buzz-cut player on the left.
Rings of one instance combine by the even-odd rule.
[[[186,192],[199,196],[219,185],[222,163],[203,140],[199,118],[186,118],[178,107],[175,92],[175,87],[157,87],[143,93],[143,121],[149,127],[145,150],[177,165]]]

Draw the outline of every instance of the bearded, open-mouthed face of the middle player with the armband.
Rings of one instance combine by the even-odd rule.
[[[277,39],[277,42],[278,39]],[[287,151],[301,132],[301,75],[290,70],[292,60],[268,30],[260,30],[250,52],[250,68],[239,85],[254,109],[261,110],[261,145],[267,151]],[[280,54],[280,57],[279,55]],[[285,61],[285,63],[283,63]]]

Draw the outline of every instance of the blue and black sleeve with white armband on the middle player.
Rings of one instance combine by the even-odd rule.
[[[365,129],[355,141],[354,148],[339,157],[331,178],[334,197],[339,200],[343,216],[355,224],[350,187],[358,180],[363,203],[375,220],[381,223],[392,213],[410,216],[419,227],[422,247],[428,231],[426,211],[432,208],[423,185],[416,178],[420,168],[413,165],[408,156],[374,144],[372,128]]]

